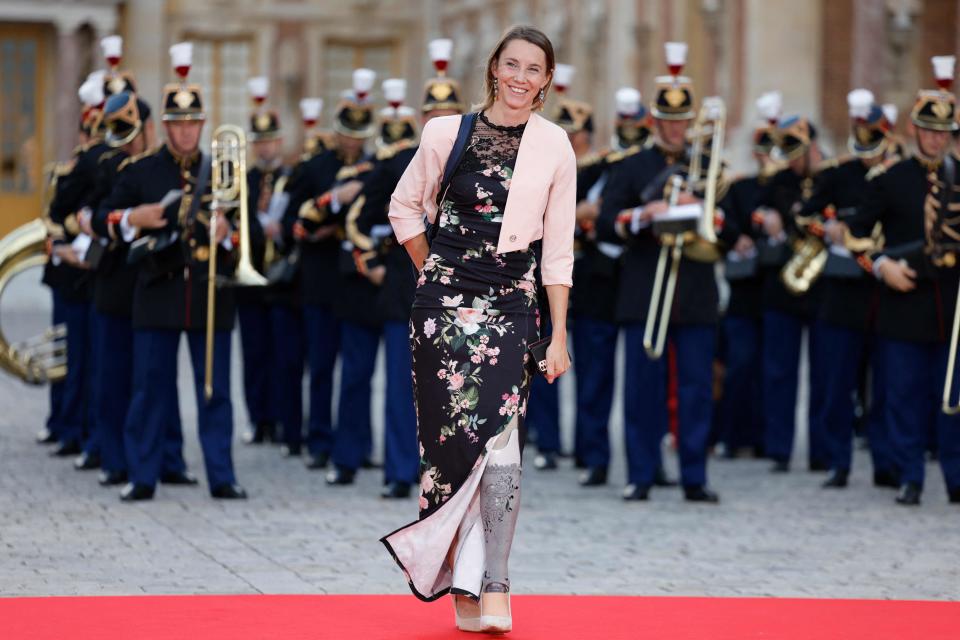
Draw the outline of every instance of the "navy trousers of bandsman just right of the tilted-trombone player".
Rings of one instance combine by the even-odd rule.
[[[723,319],[726,377],[717,418],[719,439],[728,449],[763,446],[763,358],[759,319]]]

